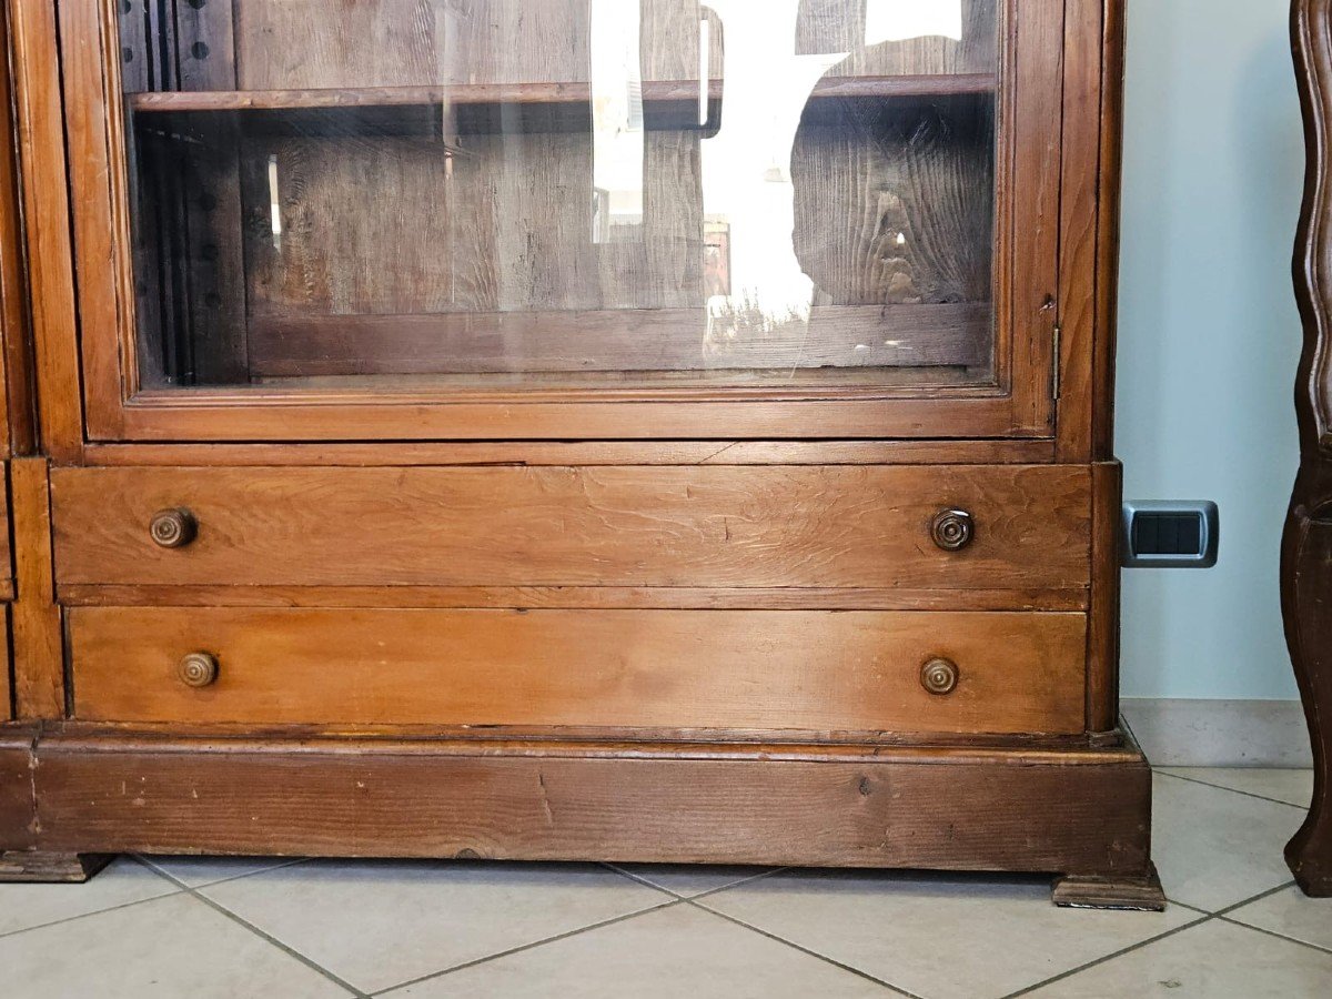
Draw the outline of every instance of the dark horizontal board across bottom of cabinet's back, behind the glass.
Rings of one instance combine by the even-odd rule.
[[[448,254],[444,257],[445,265]],[[420,288],[421,272],[413,285]],[[381,282],[382,284],[382,282]],[[809,322],[714,336],[706,309],[256,318],[268,377],[968,366],[988,356],[982,305],[825,306]]]

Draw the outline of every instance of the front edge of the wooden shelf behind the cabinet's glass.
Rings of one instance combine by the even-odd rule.
[[[932,76],[826,77],[814,88],[815,99],[830,97],[928,97],[992,93],[992,73]],[[709,97],[722,97],[723,84],[714,80]],[[448,87],[368,87],[318,91],[193,91],[129,95],[137,112],[285,111],[322,108],[392,108],[452,104],[579,104],[591,99],[586,83],[549,84],[457,84]],[[653,104],[697,101],[691,80],[643,83],[643,100]]]

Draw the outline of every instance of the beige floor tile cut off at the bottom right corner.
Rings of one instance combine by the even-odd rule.
[[[1220,919],[1031,994],[1040,999],[1327,999],[1332,954]]]

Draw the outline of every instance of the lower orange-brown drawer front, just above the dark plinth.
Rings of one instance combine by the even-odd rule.
[[[75,607],[69,629],[87,721],[1084,729],[1082,614]]]

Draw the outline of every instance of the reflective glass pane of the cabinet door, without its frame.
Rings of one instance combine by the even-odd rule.
[[[998,0],[125,0],[141,381],[991,384]]]

